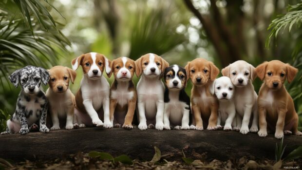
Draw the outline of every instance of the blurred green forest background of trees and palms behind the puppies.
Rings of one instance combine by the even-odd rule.
[[[300,70],[286,87],[301,117],[301,11],[301,0],[2,0],[0,109],[13,113],[19,89],[7,76],[25,65],[70,66],[91,51],[110,59],[152,52],[181,66],[204,57],[220,69],[238,59],[288,62]],[[258,92],[260,80],[254,85]]]

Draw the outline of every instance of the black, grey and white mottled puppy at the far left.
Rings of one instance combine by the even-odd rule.
[[[22,69],[16,70],[9,80],[18,87],[22,88],[15,113],[7,120],[7,129],[1,134],[20,133],[26,134],[30,129],[38,130],[38,123],[40,125],[40,132],[47,133],[49,129],[46,127],[47,114],[47,98],[41,87],[41,83],[47,84],[49,80],[49,73],[47,70],[26,66]]]

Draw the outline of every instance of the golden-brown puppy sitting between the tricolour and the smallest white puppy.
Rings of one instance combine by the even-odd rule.
[[[205,126],[208,130],[216,130],[219,104],[211,90],[219,69],[204,58],[188,62],[185,69],[188,74],[187,80],[190,78],[193,83],[191,108],[195,118],[195,129],[203,130],[205,123],[208,124],[208,127]]]

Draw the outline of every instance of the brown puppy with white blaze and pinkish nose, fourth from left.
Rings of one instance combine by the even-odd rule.
[[[114,81],[110,88],[110,121],[114,127],[132,129],[132,120],[136,107],[137,94],[132,81],[135,61],[128,57],[119,57],[111,62]]]

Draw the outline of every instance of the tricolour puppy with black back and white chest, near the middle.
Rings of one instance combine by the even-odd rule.
[[[186,70],[178,65],[165,69],[165,111],[164,129],[170,130],[170,125],[176,130],[190,129],[191,120],[190,98],[185,92],[187,83]]]

